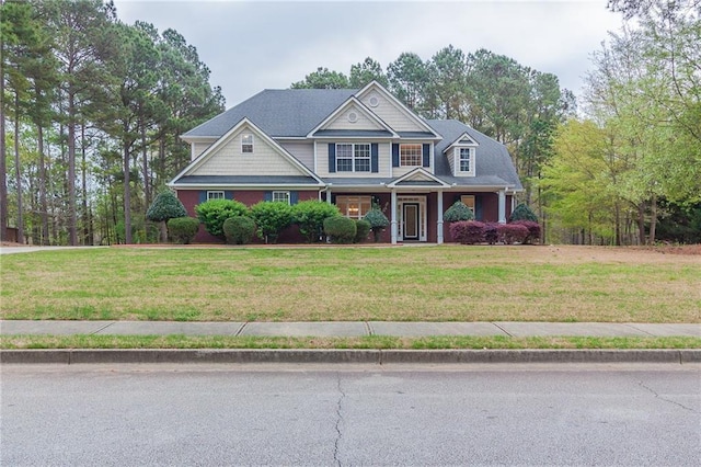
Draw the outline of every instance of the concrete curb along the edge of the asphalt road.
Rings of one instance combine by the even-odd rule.
[[[701,363],[701,349],[652,350],[3,350],[0,364],[118,363]]]

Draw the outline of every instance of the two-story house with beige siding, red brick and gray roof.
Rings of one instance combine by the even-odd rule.
[[[460,122],[424,119],[375,81],[265,90],[181,137],[192,161],[169,185],[193,216],[211,198],[321,200],[352,218],[379,204],[386,241],[443,243],[456,201],[505,223],[522,191],[506,147]],[[196,241],[211,240],[200,229]]]

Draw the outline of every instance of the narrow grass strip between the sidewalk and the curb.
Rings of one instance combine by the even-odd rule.
[[[701,349],[701,338],[425,337],[265,338],[230,335],[12,335],[0,349]]]

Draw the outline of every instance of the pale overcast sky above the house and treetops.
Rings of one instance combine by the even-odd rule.
[[[427,60],[452,44],[486,48],[582,89],[620,14],[606,0],[181,1],[115,0],[118,18],[171,27],[194,45],[227,109],[264,89],[284,89],[326,67],[346,76],[366,57],[384,69],[402,52]]]

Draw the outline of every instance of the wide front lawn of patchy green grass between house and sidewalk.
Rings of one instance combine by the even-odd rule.
[[[0,261],[3,319],[701,322],[701,257],[620,248],[111,248]]]

